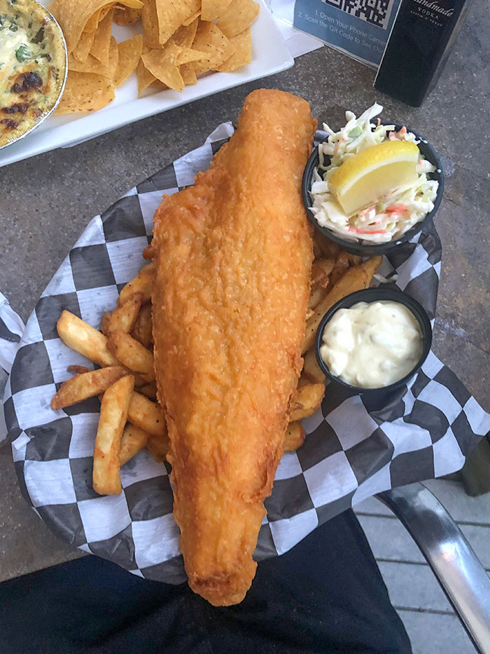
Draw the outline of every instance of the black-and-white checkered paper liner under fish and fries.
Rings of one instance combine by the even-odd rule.
[[[141,577],[185,579],[172,516],[169,470],[139,452],[121,470],[123,493],[97,496],[92,451],[97,398],[52,411],[50,400],[71,364],[90,366],[59,340],[68,309],[97,327],[118,291],[139,270],[162,193],[193,184],[232,125],[141,182],[96,216],[52,278],[31,314],[6,387],[5,414],[22,493],[60,538]],[[322,135],[319,134],[319,137]],[[440,273],[433,226],[385,257],[380,273],[415,297],[433,318]],[[490,416],[432,353],[406,388],[383,407],[327,388],[321,409],[303,421],[307,438],[281,459],[256,559],[282,554],[309,532],[374,493],[461,468]]]

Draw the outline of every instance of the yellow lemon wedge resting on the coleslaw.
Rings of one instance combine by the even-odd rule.
[[[349,157],[328,180],[332,193],[346,215],[377,203],[398,186],[417,179],[420,151],[412,141],[384,141]]]

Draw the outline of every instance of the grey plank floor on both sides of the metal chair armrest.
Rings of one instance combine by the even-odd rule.
[[[461,484],[442,479],[425,484],[458,522],[490,573],[490,495],[470,498]],[[360,503],[356,514],[378,561],[391,602],[405,623],[414,654],[474,653],[433,573],[398,519],[374,498]]]

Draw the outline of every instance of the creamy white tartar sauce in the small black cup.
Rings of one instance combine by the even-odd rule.
[[[415,316],[398,302],[358,302],[339,309],[325,325],[320,354],[330,372],[360,388],[399,381],[419,361],[422,334]]]

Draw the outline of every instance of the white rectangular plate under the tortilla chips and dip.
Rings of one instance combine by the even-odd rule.
[[[41,3],[49,6],[50,1],[41,0]],[[123,86],[116,89],[116,98],[104,109],[94,111],[93,114],[50,116],[24,139],[1,150],[0,167],[55,148],[76,145],[141,118],[160,114],[162,111],[180,107],[181,104],[188,104],[201,97],[290,68],[294,63],[293,57],[264,1],[259,1],[260,12],[252,25],[252,61],[248,66],[232,73],[212,73],[204,76],[198,79],[194,86],[186,86],[182,93],[168,89],[146,97],[137,97],[138,81],[133,73]],[[129,39],[139,32],[140,25],[113,25],[113,34],[118,41]]]

